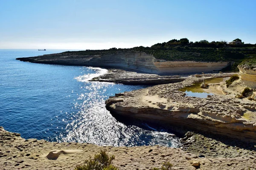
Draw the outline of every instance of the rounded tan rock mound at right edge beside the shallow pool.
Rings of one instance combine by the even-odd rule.
[[[244,85],[250,88],[256,88],[256,67],[250,65],[238,66],[241,76],[241,81]]]

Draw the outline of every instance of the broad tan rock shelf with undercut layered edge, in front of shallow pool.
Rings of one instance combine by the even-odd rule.
[[[167,122],[172,125],[218,133],[256,142],[256,103],[237,99],[236,94],[207,98],[186,96],[179,91],[205,77],[125,92],[105,103],[113,114]]]

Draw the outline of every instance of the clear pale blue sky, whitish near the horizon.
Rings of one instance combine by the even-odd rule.
[[[0,0],[0,49],[256,43],[256,0]]]

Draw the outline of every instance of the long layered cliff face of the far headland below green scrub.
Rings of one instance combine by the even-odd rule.
[[[45,64],[87,65],[133,69],[155,74],[196,73],[221,70],[228,62],[166,61],[138,51],[117,51],[113,54],[86,55],[81,51],[17,58],[20,61]]]

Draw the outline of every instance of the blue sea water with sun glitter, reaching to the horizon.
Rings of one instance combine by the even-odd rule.
[[[106,73],[102,68],[15,60],[63,51],[67,50],[0,50],[0,126],[25,139],[178,146],[179,140],[163,127],[119,122],[106,110],[109,96],[145,86],[87,81]]]

